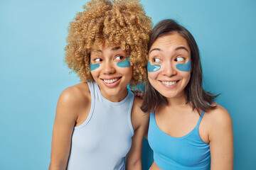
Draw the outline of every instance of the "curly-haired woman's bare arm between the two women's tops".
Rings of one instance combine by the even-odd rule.
[[[142,99],[135,98],[132,108],[132,125],[134,136],[132,137],[132,147],[127,154],[126,169],[142,170],[142,143],[144,134],[149,125],[149,115],[140,109]]]

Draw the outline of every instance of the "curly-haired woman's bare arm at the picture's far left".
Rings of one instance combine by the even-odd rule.
[[[53,140],[49,170],[66,169],[75,122],[78,118],[78,102],[74,90],[65,89],[58,100],[53,125]]]

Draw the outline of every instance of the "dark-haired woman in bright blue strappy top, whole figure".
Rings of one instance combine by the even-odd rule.
[[[151,170],[233,169],[233,128],[228,111],[202,87],[193,35],[164,20],[149,40],[148,80],[142,111],[151,113]]]

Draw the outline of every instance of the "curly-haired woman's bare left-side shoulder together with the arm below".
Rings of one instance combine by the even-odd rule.
[[[90,101],[87,83],[76,84],[65,89],[58,99],[53,125],[53,142],[50,169],[58,164],[65,168],[70,154],[71,139],[82,108]]]

